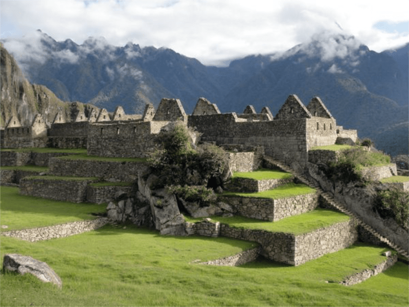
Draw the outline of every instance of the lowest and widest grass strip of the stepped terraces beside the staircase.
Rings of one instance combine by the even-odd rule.
[[[191,217],[185,217],[185,219],[188,222],[198,222],[202,220],[202,218]],[[328,227],[336,223],[349,221],[349,216],[344,213],[317,208],[307,213],[283,218],[277,222],[261,221],[244,216],[212,216],[212,220],[236,228],[259,229],[299,235]]]

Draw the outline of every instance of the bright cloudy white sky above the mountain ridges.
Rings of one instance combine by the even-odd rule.
[[[0,39],[37,29],[57,41],[104,37],[225,65],[317,33],[353,35],[377,52],[400,47],[409,42],[409,0],[0,0]]]

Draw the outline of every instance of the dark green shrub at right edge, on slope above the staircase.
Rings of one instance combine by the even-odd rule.
[[[382,218],[392,217],[403,228],[409,228],[409,194],[397,187],[377,192],[374,210]]]

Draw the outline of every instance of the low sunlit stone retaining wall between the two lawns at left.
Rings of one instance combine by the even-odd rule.
[[[40,240],[63,238],[86,231],[96,230],[104,226],[106,223],[108,223],[108,219],[106,217],[99,217],[96,220],[91,221],[80,221],[47,227],[4,231],[1,233],[1,235],[36,242]]]

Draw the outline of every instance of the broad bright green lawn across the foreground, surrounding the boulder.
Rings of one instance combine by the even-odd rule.
[[[4,188],[1,188],[3,196]],[[13,216],[50,214],[33,198],[16,194],[0,208],[20,198]],[[56,202],[55,202],[56,203]],[[59,203],[59,202],[57,202]],[[70,204],[80,207],[84,204]],[[55,210],[54,218],[64,216]],[[2,220],[3,220],[2,212]],[[40,226],[40,225],[36,225]],[[61,277],[59,290],[29,274],[0,275],[0,306],[407,306],[407,265],[352,287],[326,281],[372,269],[385,259],[379,247],[356,244],[298,267],[266,259],[241,267],[191,264],[236,254],[254,244],[228,238],[160,236],[157,231],[111,226],[66,238],[29,243],[2,237],[0,259],[20,253],[46,261]],[[1,265],[1,263],[0,263]]]

